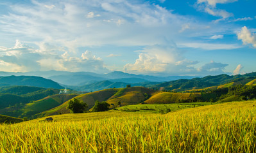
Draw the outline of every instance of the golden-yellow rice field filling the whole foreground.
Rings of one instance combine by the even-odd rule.
[[[255,106],[245,101],[165,115],[65,114],[53,116],[56,122],[1,124],[0,152],[256,152]]]

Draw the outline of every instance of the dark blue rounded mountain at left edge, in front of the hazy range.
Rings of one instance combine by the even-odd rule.
[[[26,85],[33,87],[44,87],[54,89],[64,89],[61,85],[42,77],[34,76],[8,76],[0,77],[0,86],[11,86],[11,85]]]

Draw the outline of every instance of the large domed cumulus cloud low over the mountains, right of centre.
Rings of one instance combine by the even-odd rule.
[[[141,50],[139,58],[133,64],[126,64],[124,69],[130,73],[186,75],[196,71],[193,65],[197,63],[184,59],[174,45],[154,45]]]

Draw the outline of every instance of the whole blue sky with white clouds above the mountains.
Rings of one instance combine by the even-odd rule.
[[[256,0],[0,0],[0,71],[256,71]]]

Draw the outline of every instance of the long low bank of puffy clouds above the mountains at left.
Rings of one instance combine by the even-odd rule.
[[[0,66],[2,71],[90,71],[107,73],[104,62],[92,52],[86,50],[81,57],[73,57],[65,50],[36,50],[22,44],[19,40],[12,48],[0,48]],[[63,54],[59,54],[62,52]]]

